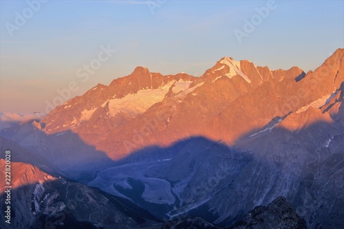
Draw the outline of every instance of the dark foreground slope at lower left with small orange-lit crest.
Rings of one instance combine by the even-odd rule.
[[[4,160],[0,160],[4,168]],[[12,162],[11,223],[1,228],[160,228],[145,210],[83,184],[52,177],[36,166]],[[0,171],[4,177],[3,171]],[[1,179],[1,209],[6,196]],[[4,219],[3,210],[1,218]]]

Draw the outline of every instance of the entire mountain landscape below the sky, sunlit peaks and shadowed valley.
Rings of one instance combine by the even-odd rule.
[[[343,89],[344,49],[307,73],[136,67],[1,128],[0,228],[344,228]]]

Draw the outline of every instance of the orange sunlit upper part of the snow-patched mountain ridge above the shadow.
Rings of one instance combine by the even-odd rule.
[[[137,67],[132,74],[114,80],[109,86],[97,85],[83,96],[56,107],[43,118],[42,122],[46,124],[43,131],[52,134],[70,129],[113,159],[124,157],[145,145],[171,144],[189,135],[204,135],[233,143],[252,127],[264,127],[272,118],[286,116],[288,112],[338,89],[339,84],[335,83],[332,88],[302,94],[305,88],[312,86],[308,82],[322,85],[328,81],[316,76],[340,53],[343,51],[337,50],[322,67],[309,74],[298,67],[271,71],[250,61],[234,61],[228,57],[222,58],[200,78],[187,74],[162,76]],[[342,74],[336,82],[341,78]],[[297,101],[290,100],[294,95],[298,96]],[[295,102],[298,104],[294,105]],[[252,113],[252,108],[257,111]],[[231,112],[240,109],[248,110],[250,115]],[[189,115],[184,117],[184,113]],[[155,118],[160,114],[164,120]],[[151,120],[151,127],[147,120]],[[179,121],[175,123],[175,120]],[[248,120],[251,123],[244,124]],[[234,131],[228,133],[225,131],[228,128]],[[138,135],[133,133],[135,129]],[[180,129],[186,132],[180,133]],[[178,131],[178,137],[173,137]],[[123,142],[127,143],[124,145]]]

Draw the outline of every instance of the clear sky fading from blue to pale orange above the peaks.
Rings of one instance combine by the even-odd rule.
[[[255,9],[268,1],[150,2],[47,1],[30,17],[26,1],[1,0],[0,111],[44,112],[45,101],[69,82],[78,85],[72,97],[79,96],[138,65],[200,76],[223,56],[232,56],[270,69],[299,66],[307,72],[344,47],[344,1],[276,1],[241,43],[234,30],[244,31],[245,19],[254,18]],[[23,13],[30,18],[10,36],[9,23],[16,25]],[[116,53],[83,82],[76,72],[98,58],[101,45]]]

